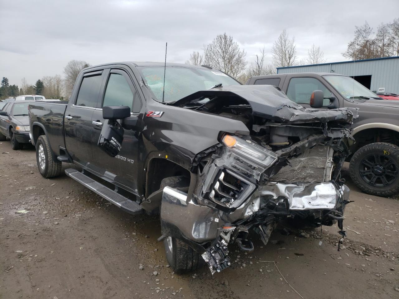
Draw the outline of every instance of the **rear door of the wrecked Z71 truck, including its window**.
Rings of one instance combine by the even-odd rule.
[[[91,118],[99,102],[103,72],[89,72],[78,78],[79,90],[72,95],[64,116],[65,147],[73,161],[85,167],[93,158]]]

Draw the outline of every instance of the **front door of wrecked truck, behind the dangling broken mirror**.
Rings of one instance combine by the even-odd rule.
[[[129,191],[137,192],[137,157],[138,134],[134,130],[124,128],[122,148],[119,155],[111,157],[97,145],[103,124],[103,106],[128,106],[131,119],[138,117],[141,102],[129,74],[121,69],[108,69],[105,73],[104,92],[99,102],[99,109],[92,117],[92,169],[105,178],[119,183]],[[124,119],[123,121],[127,121]],[[122,120],[119,120],[122,124]]]

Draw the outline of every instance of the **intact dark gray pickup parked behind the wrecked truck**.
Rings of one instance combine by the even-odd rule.
[[[322,90],[324,103],[318,108],[358,108],[352,126],[356,143],[347,159],[351,178],[368,194],[399,193],[399,101],[379,98],[351,77],[333,73],[254,76],[246,84],[274,85],[305,107],[310,107],[312,92]]]

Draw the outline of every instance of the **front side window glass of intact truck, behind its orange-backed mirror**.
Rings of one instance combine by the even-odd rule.
[[[293,102],[309,104],[314,90],[322,90],[325,97],[331,96],[330,90],[315,78],[292,78],[288,84],[287,96]],[[328,102],[328,99],[324,100],[324,104]]]

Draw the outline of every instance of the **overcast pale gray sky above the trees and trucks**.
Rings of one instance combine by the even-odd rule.
[[[298,57],[314,43],[327,62],[341,53],[365,20],[377,28],[399,17],[399,0],[0,0],[0,77],[20,85],[63,75],[71,59],[184,63],[220,33],[232,35],[250,62],[265,45],[267,60],[283,29]]]

